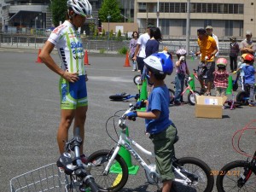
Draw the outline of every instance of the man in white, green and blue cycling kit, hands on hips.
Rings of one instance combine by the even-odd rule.
[[[88,0],[67,0],[67,20],[55,28],[44,44],[39,57],[49,69],[61,76],[61,123],[57,133],[60,153],[64,152],[68,130],[74,119],[74,127],[80,128],[84,141],[84,123],[88,108],[84,49],[78,28],[84,25],[86,15],[91,15]],[[61,58],[61,67],[50,53],[56,47]],[[83,144],[80,147],[83,155]],[[84,161],[84,155],[82,161]]]

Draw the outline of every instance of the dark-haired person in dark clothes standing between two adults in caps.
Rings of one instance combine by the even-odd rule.
[[[239,44],[236,42],[236,37],[231,37],[230,41],[230,72],[233,73],[237,69],[237,56],[240,49]]]

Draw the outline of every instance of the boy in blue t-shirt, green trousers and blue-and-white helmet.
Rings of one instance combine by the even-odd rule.
[[[137,107],[147,104],[147,112],[127,113],[128,119],[140,117],[145,119],[146,131],[150,134],[154,144],[154,154],[157,171],[163,181],[162,192],[169,192],[172,188],[174,174],[172,172],[172,156],[174,156],[174,140],[177,130],[169,119],[169,90],[164,82],[166,74],[173,70],[171,56],[159,52],[144,59],[148,69],[148,79],[154,83],[154,89],[148,96],[148,101],[137,102]]]

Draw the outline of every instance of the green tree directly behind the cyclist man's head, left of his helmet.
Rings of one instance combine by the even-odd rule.
[[[50,9],[52,11],[52,21],[55,26],[59,26],[60,21],[63,23],[66,20],[67,0],[52,0]]]

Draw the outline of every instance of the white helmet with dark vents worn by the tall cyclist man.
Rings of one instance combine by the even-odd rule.
[[[67,8],[72,8],[78,15],[91,15],[91,4],[88,0],[67,0]]]

